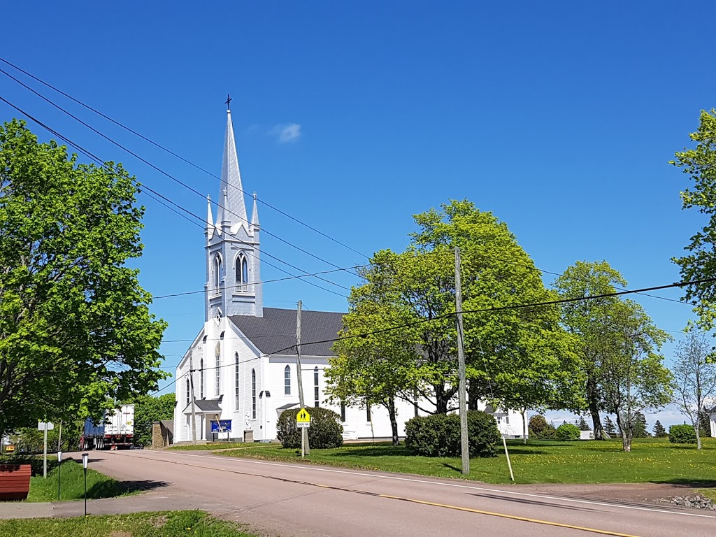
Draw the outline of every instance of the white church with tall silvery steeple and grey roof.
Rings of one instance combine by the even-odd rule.
[[[299,407],[299,374],[309,412],[310,407],[318,406],[335,410],[341,416],[344,438],[390,437],[390,420],[384,407],[332,406],[326,402],[324,370],[333,356],[332,344],[309,343],[337,337],[344,314],[302,312],[301,342],[306,344],[301,345],[298,372],[296,309],[263,307],[256,195],[249,220],[230,110],[218,199],[216,221],[208,201],[205,228],[204,326],[175,373],[174,441],[227,437],[275,440],[281,412]],[[397,402],[400,436],[405,435],[405,421],[417,413],[414,403]],[[517,412],[495,413],[495,419],[503,434],[522,434],[522,419]],[[226,429],[229,431],[223,432]]]

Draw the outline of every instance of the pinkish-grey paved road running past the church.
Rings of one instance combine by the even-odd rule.
[[[92,468],[149,481],[142,503],[203,508],[293,536],[712,537],[716,513],[561,498],[458,480],[170,451],[93,452]],[[104,501],[104,500],[100,500]]]

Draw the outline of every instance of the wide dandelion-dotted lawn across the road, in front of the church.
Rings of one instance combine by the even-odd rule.
[[[501,448],[501,446],[500,446]],[[516,483],[677,483],[716,487],[716,438],[704,439],[704,449],[676,445],[666,439],[634,440],[631,453],[621,442],[508,441]],[[278,444],[259,444],[244,450],[222,452],[228,457],[301,462],[300,450]],[[410,455],[405,446],[385,443],[347,444],[342,448],[311,450],[308,463],[384,470],[387,472],[462,478],[459,458]],[[505,455],[472,459],[469,479],[510,483]]]

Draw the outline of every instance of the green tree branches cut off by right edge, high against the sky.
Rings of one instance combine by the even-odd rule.
[[[675,154],[669,164],[681,168],[693,180],[692,188],[681,192],[682,208],[696,208],[708,217],[684,248],[690,253],[674,258],[683,281],[716,277],[716,110],[702,110],[696,132],[689,135],[696,142],[693,149]],[[716,323],[716,286],[710,281],[684,286],[684,299],[695,305],[700,326],[711,329]]]

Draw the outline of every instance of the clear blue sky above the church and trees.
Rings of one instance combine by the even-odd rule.
[[[216,174],[231,92],[244,188],[362,253],[404,248],[412,214],[469,198],[508,223],[540,269],[606,259],[637,288],[677,281],[669,259],[705,222],[681,210],[688,179],[667,161],[716,106],[712,2],[15,2],[3,14],[2,57]],[[198,195],[1,74],[0,95],[205,215]],[[216,178],[48,95],[216,198]],[[0,102],[0,120],[17,115]],[[157,296],[202,289],[200,228],[142,203],[142,285]],[[365,262],[260,211],[264,230],[316,256]],[[332,269],[266,233],[262,248],[307,272]],[[266,306],[346,309],[301,281],[263,292]],[[691,315],[637,300],[663,329]],[[202,304],[200,294],[155,301],[165,339],[183,340],[163,344],[167,367],[200,329]]]

